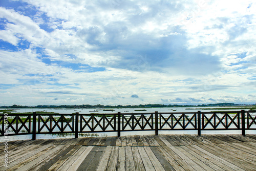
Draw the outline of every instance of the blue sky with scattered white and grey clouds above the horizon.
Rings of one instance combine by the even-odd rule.
[[[256,103],[255,1],[0,1],[0,105]]]

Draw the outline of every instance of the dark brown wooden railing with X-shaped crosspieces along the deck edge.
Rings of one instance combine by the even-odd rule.
[[[0,136],[172,130],[256,130],[256,111],[116,113],[116,114],[1,114]]]

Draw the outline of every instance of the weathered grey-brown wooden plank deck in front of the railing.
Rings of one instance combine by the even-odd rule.
[[[0,170],[256,170],[256,135],[22,140],[8,143],[8,159]]]

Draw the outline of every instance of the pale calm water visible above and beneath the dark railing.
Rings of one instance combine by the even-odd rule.
[[[193,110],[186,110],[186,109],[191,109]],[[203,108],[205,109],[212,109],[212,110],[202,110]],[[79,112],[79,114],[114,114],[117,112],[121,113],[154,113],[155,111],[158,112],[211,112],[211,111],[223,111],[223,110],[218,110],[218,108],[223,108],[223,107],[186,107],[186,108],[123,108],[123,109],[111,109],[114,111],[103,111],[100,109],[15,109],[16,112],[13,113],[26,113],[26,112],[55,112],[55,113],[60,113],[60,114],[72,114]],[[230,107],[232,108],[232,107]],[[233,108],[237,108],[237,106],[233,106]],[[105,109],[104,109],[105,110]],[[146,110],[146,111],[135,111],[135,110]],[[225,111],[241,111],[241,109],[237,110],[225,110]],[[255,113],[254,113],[255,114]],[[254,115],[255,116],[255,115]],[[155,131],[136,131],[136,132],[121,132],[121,136],[125,135],[154,135]],[[159,131],[159,134],[197,134],[197,131]],[[202,131],[201,134],[241,134],[240,130],[226,130],[226,131]],[[256,134],[255,130],[247,130],[246,134]],[[83,136],[82,136],[83,135]],[[117,132],[110,132],[110,133],[97,133],[97,134],[79,134],[79,137],[87,137],[87,136],[117,136]],[[36,139],[52,139],[52,138],[73,138],[74,134],[40,134],[36,135]],[[3,142],[6,138],[5,137],[0,137],[0,141]],[[24,140],[24,139],[32,139],[32,135],[19,135],[19,136],[8,136],[8,140]]]

